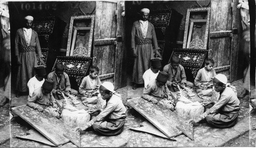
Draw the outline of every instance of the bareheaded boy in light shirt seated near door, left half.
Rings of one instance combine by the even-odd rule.
[[[82,79],[79,87],[79,93],[82,95],[89,95],[95,92],[95,90],[101,85],[100,79],[98,77],[99,68],[97,66],[92,66],[90,68],[90,74]]]

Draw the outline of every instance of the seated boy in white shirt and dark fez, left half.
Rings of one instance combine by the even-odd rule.
[[[28,88],[29,88],[29,98],[32,96],[35,89],[42,86],[42,84],[45,82],[45,76],[46,76],[46,68],[44,65],[35,66],[35,76],[31,78],[28,82]]]

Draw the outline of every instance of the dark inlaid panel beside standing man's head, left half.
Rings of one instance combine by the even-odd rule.
[[[37,34],[51,34],[53,31],[53,26],[55,22],[55,17],[35,17],[33,21],[32,29],[37,32]]]

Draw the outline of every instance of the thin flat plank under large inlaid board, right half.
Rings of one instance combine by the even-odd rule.
[[[148,121],[144,121],[141,123],[140,127],[137,128],[130,128],[133,131],[138,131],[138,132],[144,132],[144,133],[148,133],[157,137],[161,137],[164,139],[168,139],[171,141],[177,141],[175,139],[170,139],[168,138],[166,135],[164,135],[161,131],[159,131],[155,126],[153,126],[150,122]],[[180,134],[182,134],[182,132],[180,132]]]

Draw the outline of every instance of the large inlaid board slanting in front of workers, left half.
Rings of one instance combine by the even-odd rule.
[[[60,120],[50,116],[46,111],[39,112],[27,105],[12,108],[12,111],[27,121],[33,128],[44,135],[56,146],[65,144],[70,140],[63,133],[75,132],[70,130]]]

